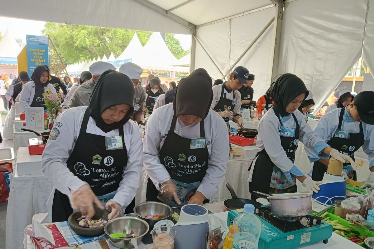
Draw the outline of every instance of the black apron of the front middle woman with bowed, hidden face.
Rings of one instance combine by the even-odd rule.
[[[206,170],[208,169],[208,148],[190,149],[190,138],[181,137],[174,133],[175,123],[177,116],[174,114],[173,120],[170,125],[170,130],[165,142],[159,152],[159,159],[168,171],[172,180],[179,182],[180,186],[183,184],[194,184],[194,187],[186,187],[186,193],[182,194],[181,202],[188,203],[188,200],[194,196],[197,187],[205,177]],[[204,120],[200,122],[200,137],[205,137]],[[178,184],[176,184],[178,187]],[[181,190],[183,192],[183,190]],[[148,179],[147,183],[147,202],[160,201],[159,191],[154,186],[153,182]],[[159,196],[161,197],[161,196]],[[164,200],[165,202],[165,200]],[[208,201],[209,202],[209,201]],[[177,206],[174,202],[167,202],[171,206]]]

